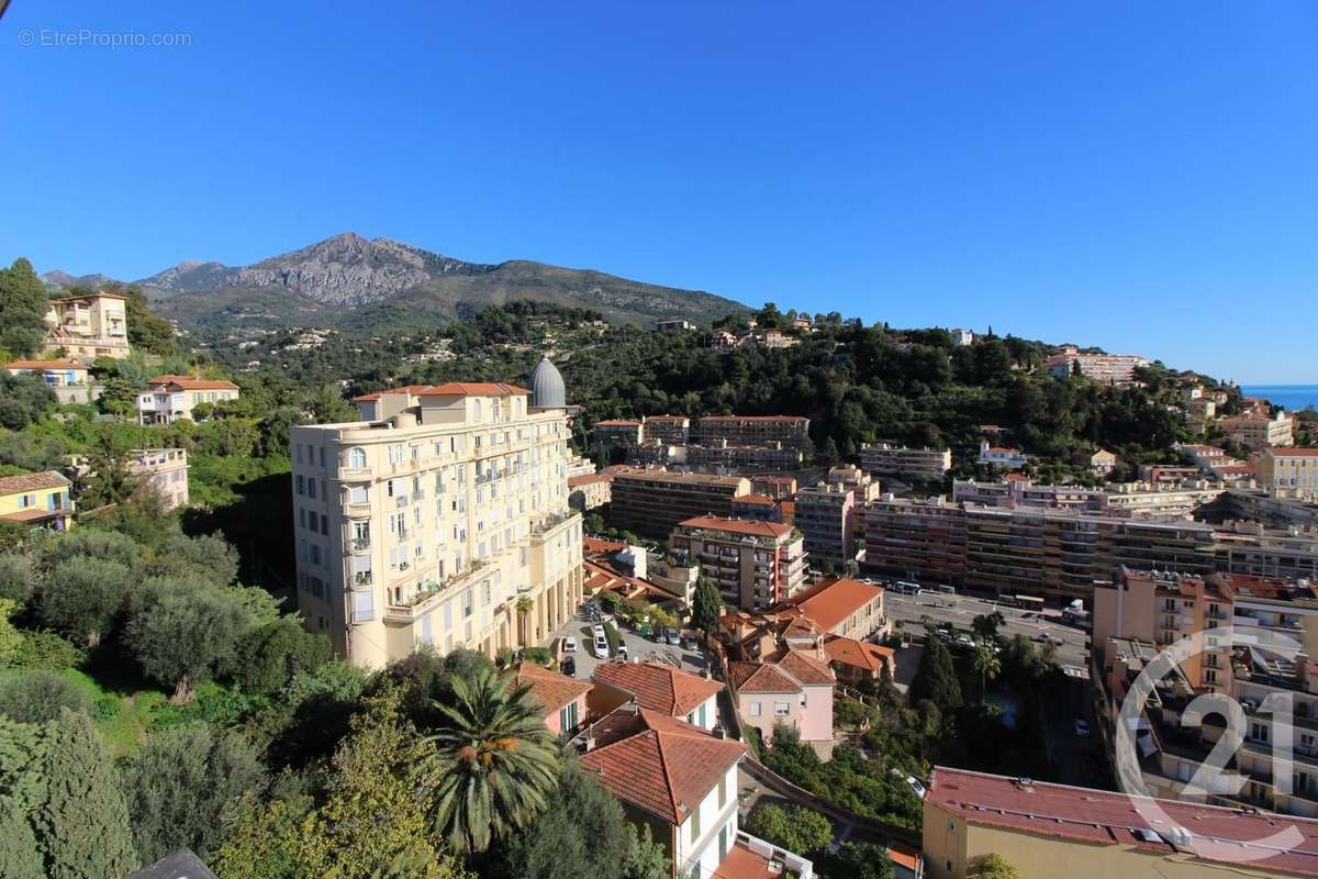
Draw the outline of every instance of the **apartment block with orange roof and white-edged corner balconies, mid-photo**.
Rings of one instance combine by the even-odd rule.
[[[700,515],[681,522],[668,543],[679,559],[699,561],[726,604],[743,610],[786,601],[805,582],[804,540],[778,522]]]

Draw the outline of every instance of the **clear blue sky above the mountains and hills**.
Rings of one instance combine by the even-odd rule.
[[[1318,382],[1311,3],[51,7],[0,21],[0,260],[352,229]]]

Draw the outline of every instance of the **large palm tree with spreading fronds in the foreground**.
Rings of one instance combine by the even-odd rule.
[[[431,820],[455,851],[484,851],[525,826],[558,785],[559,754],[527,685],[490,666],[456,676],[451,705],[435,704],[445,726],[420,766],[434,793]]]

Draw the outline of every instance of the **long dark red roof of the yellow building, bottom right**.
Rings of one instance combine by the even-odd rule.
[[[1275,871],[1296,876],[1318,876],[1318,821],[1296,816],[1277,816],[1272,812],[1247,813],[1240,809],[1199,805],[1181,800],[1153,800],[1172,826],[1185,828],[1201,843],[1205,862],[1214,862],[1215,851],[1228,855],[1240,853],[1248,845],[1256,854],[1267,854],[1249,862],[1255,871]],[[1090,845],[1119,845],[1148,854],[1194,859],[1195,851],[1185,843],[1174,843],[1168,837],[1153,842],[1137,830],[1160,834],[1168,825],[1155,825],[1132,807],[1131,797],[1069,784],[1045,784],[1000,775],[985,775],[936,767],[929,781],[925,808],[962,818],[967,824],[995,828],[1054,839],[1069,839]],[[1255,846],[1277,833],[1280,826],[1294,828],[1300,841],[1285,847]],[[1234,863],[1232,866],[1239,866]],[[1193,870],[1193,867],[1191,867]]]

